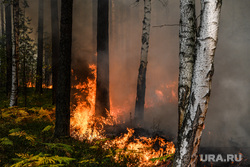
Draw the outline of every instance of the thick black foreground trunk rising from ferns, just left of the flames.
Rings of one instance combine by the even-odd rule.
[[[70,135],[70,76],[73,0],[62,0],[55,137]]]

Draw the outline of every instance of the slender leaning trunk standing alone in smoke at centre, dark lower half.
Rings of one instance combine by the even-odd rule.
[[[143,125],[146,91],[146,71],[148,64],[149,34],[151,22],[151,0],[144,0],[144,19],[142,28],[141,60],[137,79],[137,96],[135,104],[136,124]]]

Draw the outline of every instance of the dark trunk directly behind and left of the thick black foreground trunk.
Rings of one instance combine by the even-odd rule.
[[[52,103],[56,103],[57,72],[59,59],[59,19],[58,19],[58,0],[51,0],[51,29],[52,29]]]

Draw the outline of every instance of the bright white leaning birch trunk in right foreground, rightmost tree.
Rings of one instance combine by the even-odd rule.
[[[201,0],[201,25],[196,42],[197,53],[191,95],[178,139],[177,147],[180,155],[175,159],[174,166],[195,167],[198,160],[198,149],[214,72],[213,62],[218,39],[221,4],[222,0]]]

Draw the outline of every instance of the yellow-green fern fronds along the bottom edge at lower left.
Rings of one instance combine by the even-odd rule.
[[[13,160],[18,161],[11,167],[23,167],[23,166],[65,166],[69,165],[74,158],[51,156],[49,154],[40,153],[33,156],[33,154],[16,154],[19,158],[14,158]]]

